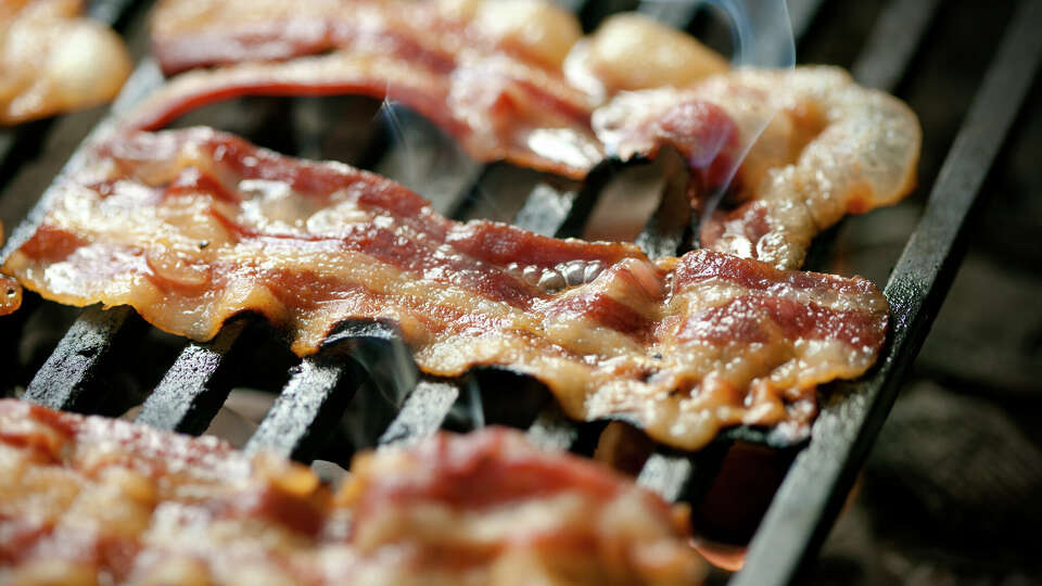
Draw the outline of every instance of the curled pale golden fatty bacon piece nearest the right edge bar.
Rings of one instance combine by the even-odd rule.
[[[688,131],[704,127],[698,123],[706,104],[722,109],[739,136],[726,135],[727,128]],[[708,218],[701,242],[779,268],[799,268],[813,237],[846,214],[906,195],[923,138],[903,102],[826,66],[739,69],[687,89],[620,94],[594,113],[594,128],[623,158],[671,144],[692,167],[716,169],[709,177],[717,183],[733,150],[755,140],[732,187],[732,196],[746,203]],[[722,148],[702,138],[713,136]]]

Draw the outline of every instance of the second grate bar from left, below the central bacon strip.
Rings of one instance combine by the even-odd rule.
[[[245,327],[245,319],[237,319],[226,323],[212,341],[186,346],[141,406],[137,421],[163,430],[203,433],[228,397],[230,387],[217,381]]]

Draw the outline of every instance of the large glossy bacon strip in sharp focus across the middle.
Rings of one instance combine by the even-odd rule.
[[[684,448],[738,423],[805,431],[815,386],[864,372],[886,333],[864,279],[458,224],[376,175],[206,128],[101,144],[46,198],[4,266],[46,298],[131,305],[194,340],[256,311],[300,355],[385,320],[431,374],[499,365],[573,418]]]

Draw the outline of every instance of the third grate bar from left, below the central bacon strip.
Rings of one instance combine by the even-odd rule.
[[[245,450],[309,462],[335,428],[361,373],[341,353],[323,351],[293,368],[290,381],[250,437]]]

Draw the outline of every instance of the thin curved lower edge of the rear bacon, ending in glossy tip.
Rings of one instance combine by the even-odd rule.
[[[203,105],[242,95],[358,93],[401,101],[478,160],[581,178],[603,158],[577,90],[537,67],[490,56],[450,76],[407,60],[338,51],[285,63],[244,63],[182,74],[145,100],[125,127],[157,129]]]

